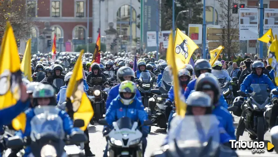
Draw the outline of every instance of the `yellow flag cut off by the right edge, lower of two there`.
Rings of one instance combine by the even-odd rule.
[[[268,56],[268,62],[270,64],[270,66],[275,71],[275,83],[277,86],[278,85],[278,63],[277,63],[278,41],[277,41],[276,36],[275,36],[275,39],[272,41],[271,45],[269,46],[269,49],[267,51],[267,56]]]

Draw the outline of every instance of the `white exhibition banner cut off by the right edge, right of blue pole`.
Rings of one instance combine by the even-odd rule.
[[[272,29],[273,35],[278,34],[278,9],[265,8],[263,34]]]

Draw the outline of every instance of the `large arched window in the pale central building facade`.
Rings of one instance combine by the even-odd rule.
[[[122,40],[129,42],[130,30],[132,31],[132,38],[136,39],[136,11],[132,7],[132,27],[130,27],[130,5],[122,5],[117,11],[117,31],[123,35]]]

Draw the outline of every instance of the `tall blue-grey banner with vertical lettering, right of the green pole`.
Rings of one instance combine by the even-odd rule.
[[[152,31],[156,32],[157,26],[160,25],[159,24],[160,19],[157,19],[157,15],[156,15],[157,9],[158,9],[158,11],[160,11],[160,9],[159,9],[160,2],[157,0],[142,0],[142,1],[144,1],[144,13],[142,16],[143,17],[143,33],[144,33],[143,43],[147,43],[147,45],[145,47],[146,52],[156,51],[156,41],[155,41],[155,44],[152,42],[150,43],[147,32],[152,32]],[[160,15],[160,13],[158,15]],[[159,18],[160,18],[160,16],[159,16]],[[160,27],[158,27],[158,28],[160,28]],[[160,30],[158,30],[158,32],[159,31]],[[155,36],[155,40],[156,40],[156,36]]]

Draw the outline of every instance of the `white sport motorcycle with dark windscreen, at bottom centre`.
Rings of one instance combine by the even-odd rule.
[[[113,122],[113,129],[103,133],[108,138],[108,156],[143,157],[140,128],[150,125],[152,122],[147,120],[138,126],[138,122],[132,122],[128,117]]]

